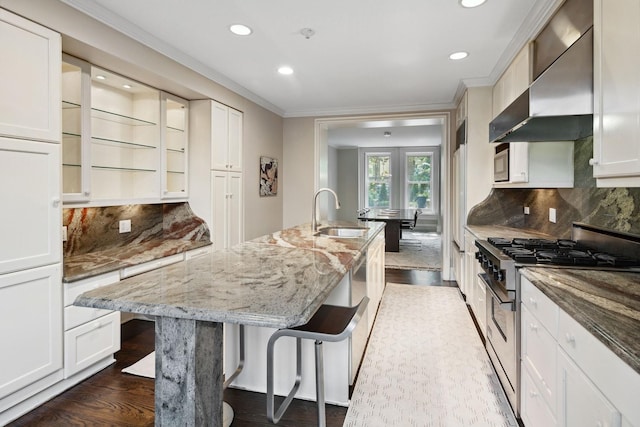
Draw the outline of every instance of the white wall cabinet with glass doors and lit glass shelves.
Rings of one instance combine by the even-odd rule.
[[[64,55],[63,200],[186,199],[189,102]]]

